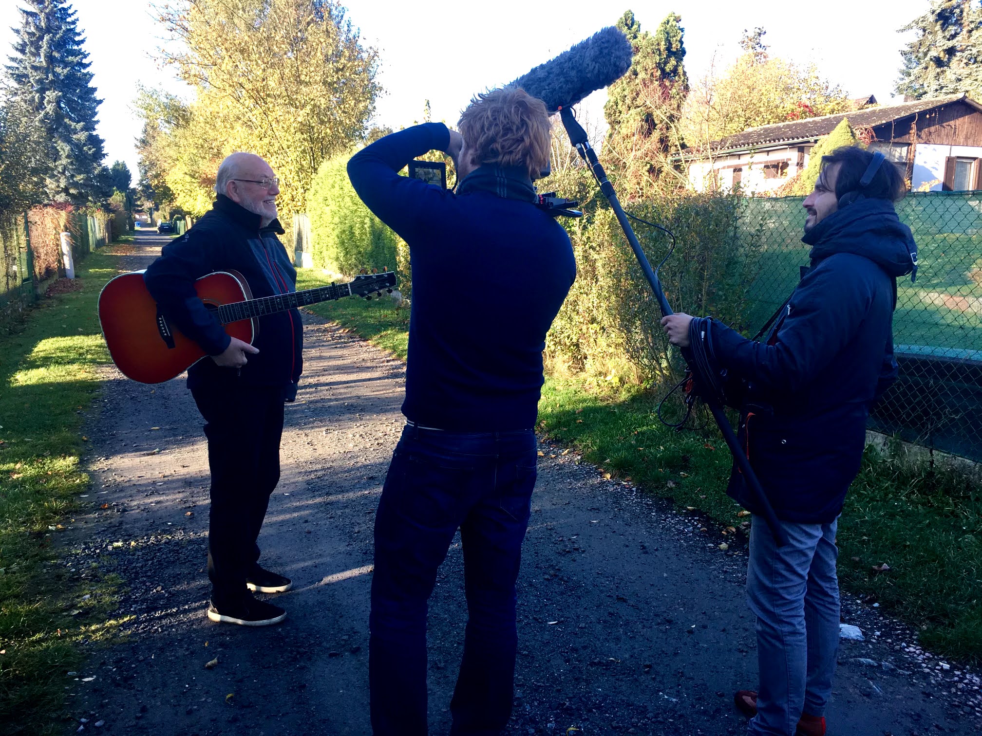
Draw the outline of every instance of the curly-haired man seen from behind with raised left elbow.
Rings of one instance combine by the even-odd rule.
[[[468,619],[451,733],[497,734],[508,722],[542,350],[575,278],[570,239],[532,185],[549,163],[545,105],[497,89],[471,101],[460,129],[392,133],[348,165],[358,196],[412,258],[407,426],[375,517],[375,736],[427,733],[427,600],[458,528]],[[456,191],[399,176],[430,150],[454,158]]]

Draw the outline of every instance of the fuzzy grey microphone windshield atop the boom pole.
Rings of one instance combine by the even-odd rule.
[[[521,87],[538,97],[552,115],[624,77],[632,56],[627,36],[620,29],[607,26],[508,86]]]

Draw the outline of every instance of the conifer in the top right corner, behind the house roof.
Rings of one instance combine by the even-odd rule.
[[[900,31],[916,37],[900,52],[896,92],[937,97],[967,92],[982,96],[982,7],[977,0],[932,0],[924,15]]]

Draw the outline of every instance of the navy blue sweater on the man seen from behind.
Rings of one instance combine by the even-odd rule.
[[[399,176],[449,142],[446,126],[428,123],[380,138],[348,164],[358,196],[409,244],[403,413],[458,432],[528,429],[546,333],[576,275],[573,247],[533,204],[527,174],[484,166],[456,193]]]

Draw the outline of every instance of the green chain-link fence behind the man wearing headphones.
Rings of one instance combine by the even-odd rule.
[[[801,197],[747,198],[739,231],[755,251],[745,312],[756,330],[808,264]],[[900,380],[870,429],[982,460],[982,191],[913,192],[898,205],[917,242],[917,281],[898,281],[894,342]]]

